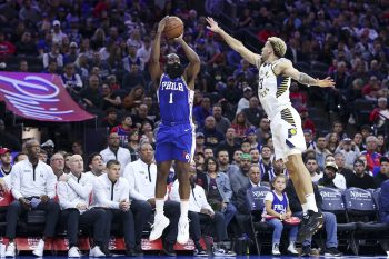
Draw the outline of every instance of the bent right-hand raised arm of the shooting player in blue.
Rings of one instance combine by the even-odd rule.
[[[190,48],[187,44],[187,42],[184,42],[184,40],[182,39],[182,34],[180,37],[176,38],[174,40],[176,40],[176,42],[181,44],[183,52],[186,53],[186,56],[189,60],[189,64],[186,68],[184,73],[187,74],[188,87],[193,89],[196,76],[200,71],[200,64],[201,64],[200,58],[194,52],[194,50],[192,48]]]

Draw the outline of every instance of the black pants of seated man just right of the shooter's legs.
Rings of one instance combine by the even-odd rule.
[[[215,216],[211,218],[208,215],[189,211],[188,217],[190,219],[189,231],[194,242],[201,238],[201,223],[211,226],[212,236],[217,241],[227,240],[227,226],[223,213],[215,212]]]

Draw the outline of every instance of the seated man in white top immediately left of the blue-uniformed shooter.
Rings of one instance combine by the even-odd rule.
[[[157,166],[153,162],[154,150],[150,143],[139,147],[139,159],[127,165],[124,178],[130,183],[131,210],[134,213],[136,243],[140,247],[142,231],[150,219],[151,211],[156,208]],[[173,245],[177,239],[178,220],[180,218],[180,203],[166,201],[163,206],[166,216],[170,220],[163,240],[163,252],[173,256]],[[139,250],[139,249],[137,249]]]

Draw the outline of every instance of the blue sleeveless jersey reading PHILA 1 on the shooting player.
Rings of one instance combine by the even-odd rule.
[[[194,91],[188,88],[183,77],[170,79],[163,73],[157,96],[162,123],[192,124]]]

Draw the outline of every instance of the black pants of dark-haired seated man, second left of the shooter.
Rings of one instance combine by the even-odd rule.
[[[131,210],[122,211],[120,209],[106,209],[107,225],[104,232],[104,246],[108,248],[111,237],[111,227],[113,222],[120,222],[123,228],[126,249],[133,249],[136,245],[133,215]]]

